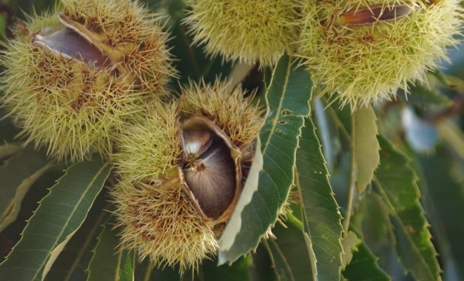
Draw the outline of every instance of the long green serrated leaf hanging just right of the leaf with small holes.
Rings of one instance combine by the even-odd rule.
[[[340,280],[342,216],[328,181],[326,162],[314,124],[311,119],[306,119],[305,125],[297,152],[297,185],[302,201],[303,230],[309,236],[316,256],[318,280]]]

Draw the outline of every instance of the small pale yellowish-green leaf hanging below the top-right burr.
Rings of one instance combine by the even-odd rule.
[[[361,107],[353,114],[353,155],[356,165],[356,190],[359,194],[363,193],[372,181],[374,170],[380,161],[376,120],[371,105]]]

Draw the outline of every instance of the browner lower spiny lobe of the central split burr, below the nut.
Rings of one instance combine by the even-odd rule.
[[[122,249],[136,249],[155,266],[179,266],[183,273],[198,268],[219,248],[211,228],[183,193],[178,178],[152,183],[122,181],[112,192],[122,231]]]

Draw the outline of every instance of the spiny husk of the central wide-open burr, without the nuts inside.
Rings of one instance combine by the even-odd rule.
[[[158,266],[178,264],[181,272],[198,268],[202,259],[217,253],[217,238],[228,217],[206,216],[186,184],[181,133],[191,129],[188,120],[195,128],[207,128],[226,143],[241,173],[242,151],[251,151],[263,122],[262,111],[244,95],[224,82],[192,83],[180,100],[150,107],[146,117],[124,127],[112,157],[120,183],[111,190],[124,249],[135,248],[141,259],[149,256]],[[252,156],[247,155],[247,164]],[[244,181],[236,173],[238,191],[224,211],[228,216]]]

